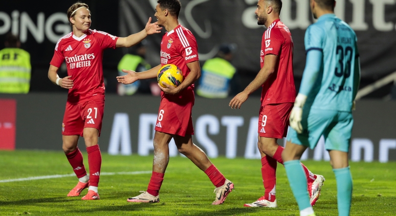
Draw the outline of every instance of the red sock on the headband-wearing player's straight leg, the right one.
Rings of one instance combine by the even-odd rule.
[[[99,145],[87,147],[89,165],[89,186],[97,187],[99,183],[100,166],[102,165],[102,155]]]

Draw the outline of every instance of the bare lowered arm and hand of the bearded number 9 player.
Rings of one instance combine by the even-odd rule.
[[[257,74],[256,78],[253,79],[243,92],[232,98],[228,106],[230,106],[231,109],[241,109],[242,103],[247,100],[249,95],[263,86],[264,82],[275,72],[278,59],[279,57],[277,55],[265,55],[264,66]]]

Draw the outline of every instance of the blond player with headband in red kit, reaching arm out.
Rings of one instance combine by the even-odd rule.
[[[50,62],[48,78],[62,88],[69,89],[62,123],[63,150],[79,178],[79,182],[67,196],[79,196],[88,188],[82,199],[99,199],[98,182],[102,156],[98,136],[102,127],[105,104],[102,57],[107,48],[130,47],[147,35],[159,33],[156,23],[127,38],[114,37],[108,33],[90,30],[91,14],[88,5],[77,2],[67,10],[72,32],[59,39]],[[57,71],[66,60],[67,77],[59,78]],[[89,177],[83,155],[77,147],[78,138],[84,136],[88,152]]]

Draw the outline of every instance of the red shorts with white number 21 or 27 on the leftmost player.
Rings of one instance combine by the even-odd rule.
[[[62,123],[62,135],[79,135],[83,137],[84,128],[102,129],[104,100],[91,100],[83,103],[66,103]]]

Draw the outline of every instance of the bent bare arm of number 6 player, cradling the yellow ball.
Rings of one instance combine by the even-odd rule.
[[[175,87],[162,82],[162,84],[164,84],[167,88],[164,88],[158,84],[161,90],[166,94],[177,95],[179,92],[183,91],[201,77],[201,67],[199,66],[199,61],[187,63],[187,67],[190,69],[190,73],[184,78],[183,82],[181,82],[179,86]]]

